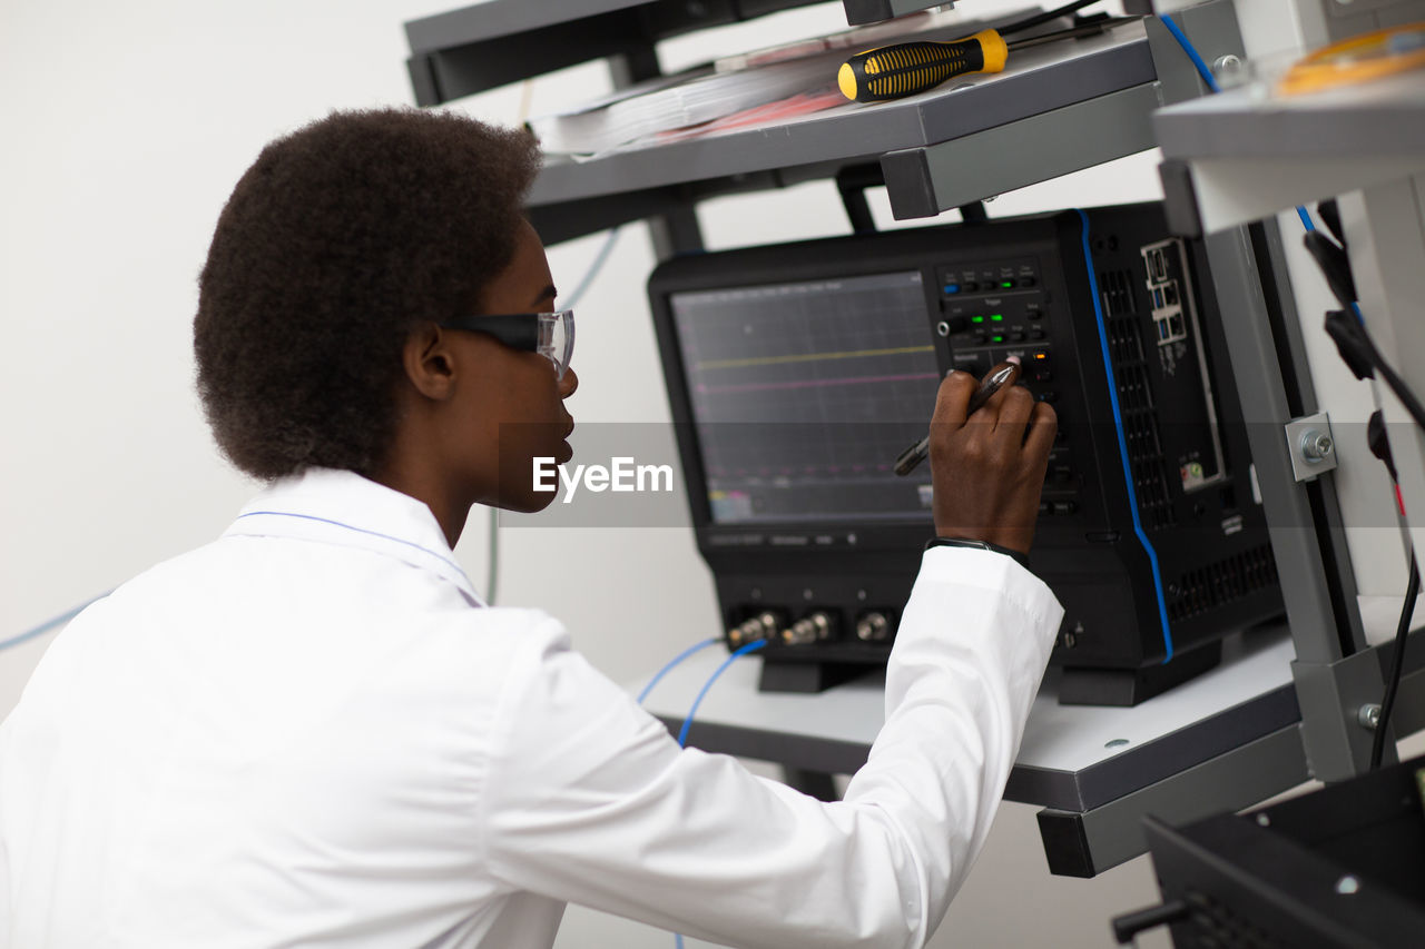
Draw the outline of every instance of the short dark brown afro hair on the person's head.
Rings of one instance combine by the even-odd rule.
[[[415,108],[333,113],[264,148],[198,281],[198,395],[224,455],[262,480],[372,473],[402,346],[479,306],[539,165],[526,131]]]

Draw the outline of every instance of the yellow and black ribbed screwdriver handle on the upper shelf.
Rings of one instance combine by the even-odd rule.
[[[933,88],[965,73],[999,73],[1009,47],[996,30],[953,43],[898,43],[856,53],[841,64],[836,84],[856,103],[881,103]]]

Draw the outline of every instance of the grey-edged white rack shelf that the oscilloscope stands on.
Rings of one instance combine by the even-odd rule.
[[[1006,801],[1045,808],[1050,871],[1094,876],[1144,852],[1144,814],[1190,821],[1305,781],[1291,657],[1281,626],[1245,631],[1226,643],[1223,665],[1137,708],[1060,705],[1050,668],[1005,787]],[[674,668],[644,707],[677,734],[721,658],[708,650]],[[881,681],[770,694],[757,690],[757,667],[754,658],[727,670],[690,744],[815,772],[865,764],[884,721]]]

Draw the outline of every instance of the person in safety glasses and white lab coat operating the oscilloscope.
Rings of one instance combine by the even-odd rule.
[[[703,939],[921,946],[983,845],[1062,610],[1054,416],[952,373],[886,722],[844,801],[680,750],[452,553],[570,459],[573,315],[524,133],[338,113],[268,145],[200,282],[198,392],[265,489],[60,634],[0,727],[0,943],[547,949],[567,902]],[[929,408],[929,406],[928,406]],[[953,490],[949,486],[953,484]]]

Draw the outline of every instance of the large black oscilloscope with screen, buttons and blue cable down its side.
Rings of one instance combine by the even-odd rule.
[[[1207,271],[1160,204],[675,258],[648,282],[698,550],[762,688],[882,664],[933,534],[891,465],[1006,356],[1059,415],[1030,554],[1060,700],[1130,705],[1281,611]],[[761,630],[761,633],[758,633]]]

